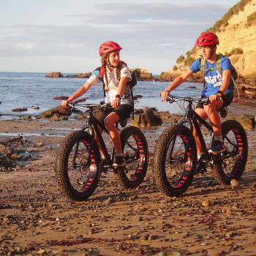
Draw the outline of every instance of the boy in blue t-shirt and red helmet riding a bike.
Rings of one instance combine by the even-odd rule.
[[[204,120],[209,118],[211,125],[214,129],[214,144],[211,148],[208,149],[209,152],[217,154],[225,151],[225,145],[222,140],[222,129],[221,129],[221,120],[217,110],[220,110],[222,106],[227,107],[233,100],[234,95],[234,83],[231,79],[231,71],[233,66],[230,62],[230,59],[227,59],[226,56],[222,56],[220,65],[222,67],[222,73],[219,72],[217,67],[217,58],[216,53],[217,45],[219,45],[219,39],[214,33],[204,33],[197,38],[195,46],[200,48],[203,59],[205,59],[206,70],[205,72],[205,81],[206,87],[203,90],[202,97],[209,97],[210,104],[202,105],[197,104],[195,112]],[[167,95],[170,94],[170,91],[176,89],[181,83],[183,83],[187,78],[200,71],[200,62],[201,59],[197,59],[189,69],[183,74],[179,75],[172,83],[161,93],[162,99],[165,101]],[[217,98],[221,98],[217,100]],[[202,124],[199,124],[201,127]],[[203,154],[203,148],[200,145],[197,133],[194,129],[195,142],[197,144],[197,159],[200,159]],[[196,167],[196,173],[200,171],[200,165]]]

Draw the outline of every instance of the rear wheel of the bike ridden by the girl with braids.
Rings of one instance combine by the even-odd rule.
[[[118,184],[126,189],[138,187],[148,169],[148,143],[137,127],[126,127],[121,131],[121,147],[126,164],[118,167],[115,177]]]

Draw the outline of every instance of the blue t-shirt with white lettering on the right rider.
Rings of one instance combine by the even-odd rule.
[[[213,67],[216,67],[216,65],[217,62],[211,64],[206,60],[206,69],[211,69]],[[220,66],[222,67],[222,72],[227,69],[233,69],[230,59],[228,59],[227,56],[222,56]],[[200,58],[194,61],[189,69],[194,73],[200,71]],[[220,86],[222,86],[222,73],[219,72],[217,68],[213,70],[208,70],[204,79],[206,80],[206,87],[203,90],[202,94],[206,95],[207,97],[209,97],[211,94],[217,94]],[[230,85],[227,87],[225,94],[229,94],[231,97],[234,97],[234,83],[231,78]]]

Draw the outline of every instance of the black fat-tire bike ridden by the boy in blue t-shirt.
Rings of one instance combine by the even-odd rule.
[[[211,145],[214,143],[214,131],[207,121],[195,113],[193,102],[209,104],[208,98],[176,97],[169,95],[167,102],[177,102],[185,116],[182,121],[167,127],[159,136],[154,150],[153,173],[158,189],[169,197],[182,195],[192,183],[197,165],[197,146],[193,129],[197,131],[200,144],[203,146],[203,156],[200,157],[201,172],[211,167],[214,178],[221,185],[230,185],[233,179],[238,180],[244,172],[248,143],[246,132],[238,121],[222,122],[222,138],[226,150],[219,154],[208,152],[206,142],[197,124],[201,124],[211,133]],[[187,103],[186,103],[187,102]],[[227,115],[227,108],[220,111],[221,116]]]

